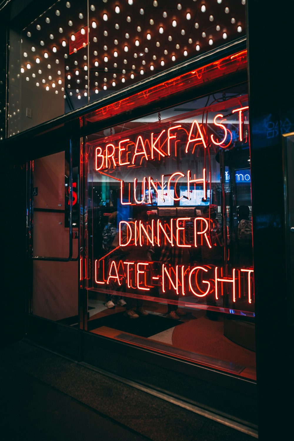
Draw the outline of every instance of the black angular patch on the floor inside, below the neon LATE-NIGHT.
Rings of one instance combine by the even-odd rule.
[[[147,338],[183,323],[180,320],[175,322],[155,314],[133,319],[125,317],[123,314],[124,312],[119,312],[90,320],[88,321],[88,331],[100,328],[100,326],[107,326],[108,328]]]

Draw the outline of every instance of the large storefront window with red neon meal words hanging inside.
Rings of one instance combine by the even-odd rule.
[[[246,85],[85,139],[92,333],[255,378]]]

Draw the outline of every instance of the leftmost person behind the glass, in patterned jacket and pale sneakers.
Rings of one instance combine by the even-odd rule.
[[[117,211],[114,211],[109,217],[108,217],[108,224],[105,225],[104,230],[102,232],[102,248],[104,250],[104,253],[107,254],[109,251],[111,251],[114,246],[114,238],[117,235],[118,229],[116,227],[116,219],[117,219]],[[113,256],[112,256],[113,258]],[[107,256],[104,259],[104,265],[108,269],[109,272],[109,266],[110,266],[110,256]],[[110,284],[109,288],[111,289],[112,286]],[[125,300],[123,298],[120,298],[118,300],[118,305],[124,306],[126,304]],[[115,308],[115,304],[113,302],[113,295],[107,294],[106,295],[106,302],[105,306],[107,308]]]

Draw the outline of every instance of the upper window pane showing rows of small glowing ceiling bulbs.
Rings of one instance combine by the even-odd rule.
[[[8,136],[244,36],[244,5],[34,3],[10,28]]]

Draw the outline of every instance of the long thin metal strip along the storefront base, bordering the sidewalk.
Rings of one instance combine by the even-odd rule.
[[[103,369],[97,368],[95,366],[89,365],[88,363],[79,362],[81,366],[84,366],[90,370],[94,370],[98,372],[101,375],[105,375],[106,377],[110,377],[113,380],[120,381],[121,383],[124,383],[128,386],[134,387],[136,389],[141,390],[142,392],[149,393],[150,395],[156,396],[157,398],[161,398],[162,400],[165,400],[171,404],[175,404],[176,406],[183,407],[184,409],[194,412],[198,415],[202,415],[205,418],[212,419],[213,421],[219,422],[220,424],[223,424],[224,426],[231,427],[232,429],[238,430],[239,432],[242,432],[244,434],[250,435],[254,438],[258,438],[258,431],[257,426],[253,426],[250,423],[247,423],[246,421],[238,421],[236,419],[230,419],[230,416],[227,415],[220,415],[220,413],[212,408],[205,408],[204,406],[201,407],[200,404],[192,404],[189,402],[186,402],[184,400],[181,400],[180,398],[176,398],[174,396],[168,395],[167,393],[160,392],[156,389],[152,389],[148,386],[141,385],[139,383],[136,383],[135,381],[128,380],[124,377],[119,377],[119,375],[112,374],[111,372],[105,371]]]

